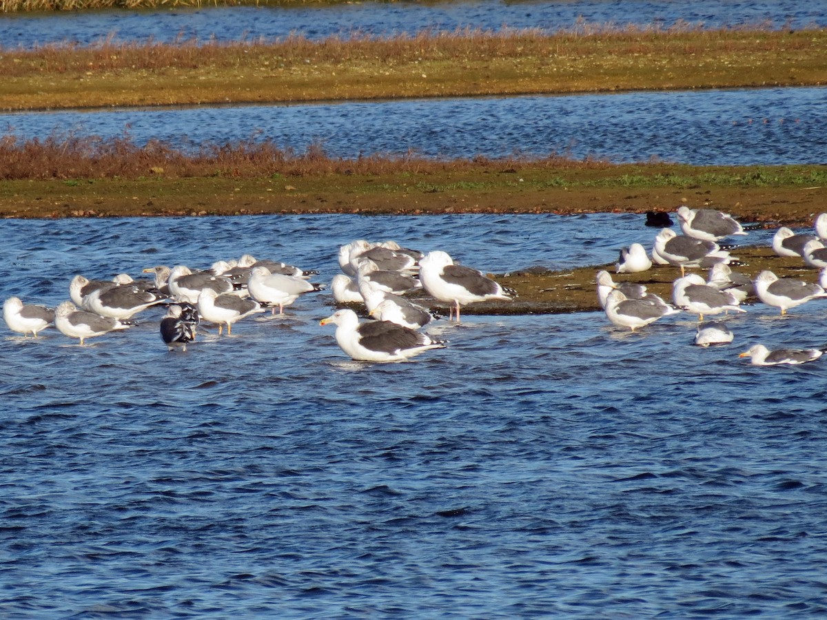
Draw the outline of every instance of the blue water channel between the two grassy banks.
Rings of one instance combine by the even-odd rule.
[[[130,136],[184,148],[269,139],[346,158],[557,153],[691,165],[824,163],[825,123],[825,88],[0,114],[0,131],[21,139]]]

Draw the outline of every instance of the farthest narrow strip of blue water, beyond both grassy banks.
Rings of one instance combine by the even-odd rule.
[[[354,2],[337,7],[207,7],[162,11],[100,11],[3,15],[0,42],[8,47],[61,41],[82,44],[114,36],[120,41],[238,41],[284,38],[298,33],[311,39],[352,32],[386,36],[426,28],[453,31],[466,26],[489,30],[571,28],[579,19],[614,23],[672,26],[688,21],[705,27],[769,24],[772,27],[827,25],[825,0],[780,2],[646,2],[641,0],[575,0],[573,2]]]

